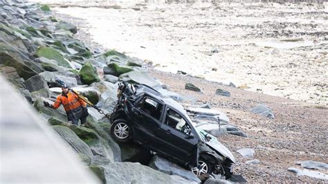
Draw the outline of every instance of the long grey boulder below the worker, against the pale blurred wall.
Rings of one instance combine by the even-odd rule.
[[[85,142],[83,142],[83,140],[81,140],[74,133],[74,131],[72,131],[68,127],[64,127],[64,126],[60,126],[60,125],[53,126],[53,129],[55,129],[57,134],[60,135],[60,137],[65,142],[67,142],[76,153],[83,154],[83,155],[89,156],[89,157],[93,156],[90,147]]]

